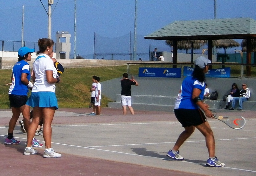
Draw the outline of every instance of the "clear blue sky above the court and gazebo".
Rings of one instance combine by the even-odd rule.
[[[217,18],[250,17],[256,20],[255,0],[216,0]],[[47,9],[47,0],[42,0]],[[54,9],[58,0],[54,0]],[[214,0],[137,0],[137,34],[147,35],[179,20],[213,18]],[[47,38],[47,13],[39,0],[0,1],[0,40],[21,41],[22,5],[25,6],[24,41]],[[94,32],[114,38],[134,32],[135,0],[76,0],[76,53],[93,53]],[[74,0],[59,0],[52,13],[56,31],[71,34],[73,53]]]

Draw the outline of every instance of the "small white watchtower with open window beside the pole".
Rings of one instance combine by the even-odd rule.
[[[70,37],[71,34],[68,34],[67,31],[56,32],[56,58],[69,59],[71,50]]]

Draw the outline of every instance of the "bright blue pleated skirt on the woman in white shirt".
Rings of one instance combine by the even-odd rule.
[[[55,107],[58,109],[58,101],[55,92],[31,92],[26,105],[31,107]]]

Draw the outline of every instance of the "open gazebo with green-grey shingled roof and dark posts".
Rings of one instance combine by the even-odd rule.
[[[208,59],[212,61],[213,40],[246,39],[246,64],[251,64],[250,39],[256,38],[256,21],[252,18],[175,21],[144,38],[172,40],[173,63],[177,63],[177,41],[180,40],[208,40]],[[246,71],[247,76],[250,76],[250,65],[246,66]]]

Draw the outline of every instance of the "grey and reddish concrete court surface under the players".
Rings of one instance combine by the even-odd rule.
[[[198,130],[181,146],[184,161],[166,157],[182,126],[174,113],[103,108],[101,116],[89,116],[89,108],[59,109],[52,124],[52,147],[62,158],[24,156],[26,134],[14,130],[20,145],[4,145],[10,110],[0,110],[0,175],[256,175],[256,118],[254,111],[217,110],[218,115],[239,115],[246,126],[233,130],[209,119],[216,140],[216,156],[226,166],[209,168],[204,137]],[[19,118],[20,120],[21,118]],[[42,136],[36,136],[43,142]]]

